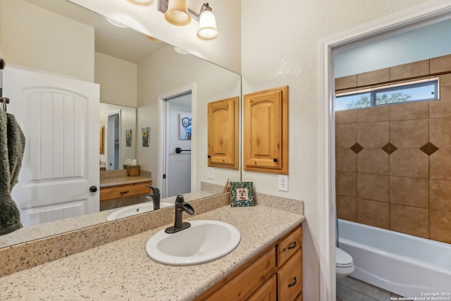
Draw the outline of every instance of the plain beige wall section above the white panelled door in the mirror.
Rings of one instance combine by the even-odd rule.
[[[94,29],[22,0],[1,0],[6,63],[94,82]]]

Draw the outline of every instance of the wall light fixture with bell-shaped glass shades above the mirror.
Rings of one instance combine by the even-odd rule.
[[[197,14],[187,7],[187,0],[159,0],[158,10],[164,13],[164,18],[168,23],[176,26],[190,24],[191,16],[199,20],[199,30],[197,31],[199,39],[211,40],[216,39],[219,35],[216,29],[216,18],[208,3],[202,4],[200,12]]]

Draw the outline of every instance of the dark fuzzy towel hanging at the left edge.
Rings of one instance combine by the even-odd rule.
[[[0,110],[0,235],[22,228],[20,212],[11,198],[25,151],[25,135],[16,118]]]

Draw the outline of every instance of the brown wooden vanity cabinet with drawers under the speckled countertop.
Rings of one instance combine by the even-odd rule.
[[[195,299],[201,300],[302,300],[302,226]]]

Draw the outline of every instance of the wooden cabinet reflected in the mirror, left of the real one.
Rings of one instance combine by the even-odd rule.
[[[238,97],[208,104],[208,166],[238,169]]]

